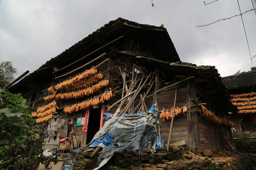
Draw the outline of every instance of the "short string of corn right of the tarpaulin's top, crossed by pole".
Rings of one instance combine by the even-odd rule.
[[[163,108],[163,110],[161,110],[161,114],[159,116],[160,119],[163,119],[163,121],[165,121],[165,119],[167,120],[171,120],[173,117],[173,111],[174,111],[174,118],[179,117],[179,116],[187,116],[187,111],[188,108],[186,106],[183,106],[181,109],[177,106],[175,109],[172,108],[171,110],[168,110],[165,108]]]

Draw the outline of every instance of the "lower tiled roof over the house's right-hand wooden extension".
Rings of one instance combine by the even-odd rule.
[[[223,105],[223,110],[233,110],[236,113],[237,107],[230,102],[230,95],[226,86],[222,83],[221,76],[214,66],[197,66],[196,64],[177,61],[168,62],[159,59],[150,59],[139,54],[121,51],[124,55],[137,61],[137,64],[147,68],[152,72],[155,68],[162,69],[160,74],[165,74],[167,81],[173,81],[175,76],[195,76],[195,84],[201,90],[201,93],[208,93],[213,98],[219,100],[220,105]],[[219,105],[219,106],[220,106]]]

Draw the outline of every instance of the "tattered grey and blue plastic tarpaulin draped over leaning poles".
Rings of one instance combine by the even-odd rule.
[[[158,107],[154,104],[147,112],[122,114],[112,121],[97,138],[88,144],[90,147],[103,148],[98,163],[122,149],[133,149],[141,153],[146,149],[155,151],[158,140],[155,128],[157,115]]]

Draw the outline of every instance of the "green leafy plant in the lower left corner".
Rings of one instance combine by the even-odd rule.
[[[49,134],[47,124],[36,128],[27,100],[20,94],[0,90],[0,169],[35,170],[39,163],[48,168],[57,156],[45,157],[42,145]],[[40,130],[39,130],[40,129]]]

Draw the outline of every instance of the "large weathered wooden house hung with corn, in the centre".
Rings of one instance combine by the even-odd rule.
[[[217,69],[181,62],[161,26],[122,18],[110,21],[9,90],[27,98],[38,123],[52,119],[51,128],[55,128],[73,120],[74,133],[84,146],[102,127],[103,116],[113,115],[119,108],[119,104],[110,106],[129,91],[132,82],[137,80],[137,89],[147,77],[134,107],[127,111],[121,107],[121,113],[130,112],[141,100],[147,107],[157,102],[159,114],[162,108],[171,111],[177,90],[175,108],[184,111],[175,116],[171,143],[185,140],[187,150],[193,152],[234,148],[230,127],[235,125],[227,116],[236,107],[229,101]],[[88,124],[80,126],[81,118]],[[160,119],[159,128],[165,144],[171,123],[166,118]],[[67,129],[61,135],[66,133]]]

